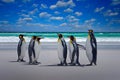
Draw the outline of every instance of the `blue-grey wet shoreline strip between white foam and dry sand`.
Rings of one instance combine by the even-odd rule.
[[[0,50],[17,49],[18,42],[0,42]],[[28,47],[27,42],[27,47]],[[68,42],[67,42],[68,44]],[[85,42],[78,42],[78,44],[84,45]],[[120,43],[118,42],[98,42],[98,49],[120,49]],[[42,49],[57,49],[57,42],[41,42]]]

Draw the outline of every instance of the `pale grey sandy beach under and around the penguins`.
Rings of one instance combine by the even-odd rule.
[[[26,62],[16,62],[17,44],[1,43],[0,80],[120,80],[120,45],[98,44],[97,66],[85,66],[89,61],[81,49],[80,63],[84,66],[57,66],[56,43],[42,44],[39,65],[28,65],[27,53]],[[67,62],[70,62],[69,55]]]

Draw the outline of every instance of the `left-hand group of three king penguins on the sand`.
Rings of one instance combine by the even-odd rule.
[[[25,53],[27,50],[25,39],[23,38],[24,35],[19,35],[19,42],[17,47],[17,53],[18,53],[18,60],[17,62],[25,62],[23,59],[25,57]],[[39,54],[41,51],[41,45],[40,40],[42,38],[37,36],[32,36],[32,39],[29,42],[28,45],[28,56],[29,56],[29,64],[37,65],[40,62],[38,62]]]

